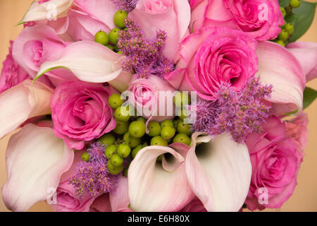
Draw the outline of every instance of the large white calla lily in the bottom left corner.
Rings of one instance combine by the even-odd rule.
[[[26,211],[50,198],[73,157],[73,150],[55,136],[53,129],[25,125],[11,137],[6,150],[8,180],[2,188],[6,207]]]

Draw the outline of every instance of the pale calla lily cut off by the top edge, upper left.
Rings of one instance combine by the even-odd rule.
[[[60,16],[68,10],[74,0],[50,0],[42,4],[33,1],[25,16],[18,25],[30,21],[56,19],[54,16]]]

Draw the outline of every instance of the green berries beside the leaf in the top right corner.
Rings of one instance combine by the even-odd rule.
[[[282,11],[282,15],[285,18],[292,13],[293,8],[298,8],[299,6],[301,6],[301,0],[290,0],[290,4],[286,7],[280,7],[280,11]],[[292,37],[294,33],[294,25],[285,22],[281,28],[282,30],[274,42],[285,47],[285,45],[290,43],[290,37]]]

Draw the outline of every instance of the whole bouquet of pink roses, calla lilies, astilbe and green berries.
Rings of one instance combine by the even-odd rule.
[[[316,98],[301,0],[41,0],[0,78],[7,208],[238,211],[292,195]]]

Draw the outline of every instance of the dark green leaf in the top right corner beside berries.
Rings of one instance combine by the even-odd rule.
[[[285,4],[284,0],[280,2]],[[302,1],[299,8],[293,8],[292,13],[285,17],[287,23],[294,25],[294,34],[290,38],[290,42],[298,40],[309,29],[313,22],[313,16],[315,16],[315,10],[316,4]]]

